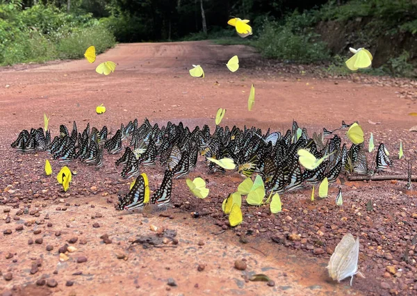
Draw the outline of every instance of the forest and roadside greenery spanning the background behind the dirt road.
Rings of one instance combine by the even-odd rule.
[[[231,17],[250,19],[240,38]],[[1,0],[0,65],[82,58],[117,42],[213,40],[265,58],[349,74],[349,47],[374,55],[369,74],[417,77],[417,0]]]

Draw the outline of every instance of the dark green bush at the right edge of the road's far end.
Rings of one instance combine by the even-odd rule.
[[[317,63],[329,59],[329,51],[319,35],[294,33],[290,26],[265,22],[256,47],[266,58],[290,60],[300,63]]]

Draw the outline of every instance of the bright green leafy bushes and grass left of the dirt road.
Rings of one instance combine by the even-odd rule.
[[[0,65],[80,58],[87,47],[97,52],[115,44],[106,26],[91,15],[69,15],[54,6],[0,4]]]

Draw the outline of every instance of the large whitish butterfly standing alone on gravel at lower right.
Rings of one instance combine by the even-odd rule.
[[[327,265],[329,276],[338,282],[347,277],[352,277],[350,279],[350,286],[352,286],[353,276],[361,274],[358,271],[358,258],[359,237],[355,240],[352,233],[347,233],[334,249],[332,257],[330,257],[329,265]],[[363,274],[361,276],[363,277]]]

